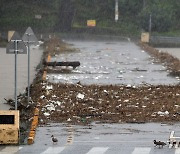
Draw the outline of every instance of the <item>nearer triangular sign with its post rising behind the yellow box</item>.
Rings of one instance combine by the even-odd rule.
[[[17,54],[27,54],[27,48],[19,34],[15,32],[6,48],[7,54],[15,54],[15,110],[17,110]]]

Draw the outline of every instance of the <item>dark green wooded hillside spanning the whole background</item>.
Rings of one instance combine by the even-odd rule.
[[[118,0],[119,20],[115,22],[115,0],[1,0],[1,30],[24,30],[31,26],[38,32],[70,31],[72,26],[86,27],[96,20],[98,28],[137,33],[180,29],[180,0]],[[36,19],[35,15],[41,15]]]

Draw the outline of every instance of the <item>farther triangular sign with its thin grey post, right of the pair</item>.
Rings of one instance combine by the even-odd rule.
[[[36,36],[34,35],[33,30],[31,29],[31,27],[28,27],[26,32],[24,33],[22,40],[24,41],[24,43],[27,45],[28,48],[28,97],[27,97],[27,101],[29,103],[29,97],[30,97],[30,45],[34,44],[37,45],[38,44],[38,40],[36,38]]]

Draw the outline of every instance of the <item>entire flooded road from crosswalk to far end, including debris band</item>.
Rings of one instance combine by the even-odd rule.
[[[179,123],[172,124],[180,120],[179,77],[168,76],[166,67],[132,42],[69,43],[80,51],[51,60],[80,61],[81,66],[33,83],[40,125],[35,144],[17,146],[16,152],[179,154],[179,149],[153,145],[154,139],[168,140],[171,130],[180,134]],[[170,124],[140,124],[152,121]]]

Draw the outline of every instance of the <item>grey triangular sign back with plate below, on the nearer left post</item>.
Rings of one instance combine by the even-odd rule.
[[[16,47],[16,45],[17,45],[17,47]],[[15,52],[17,54],[27,54],[27,47],[17,32],[15,32],[13,34],[13,36],[6,48],[7,54],[15,54]]]

